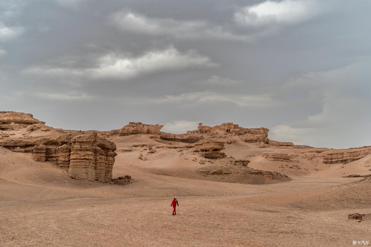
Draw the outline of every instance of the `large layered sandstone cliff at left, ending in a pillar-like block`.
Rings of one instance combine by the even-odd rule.
[[[52,161],[78,178],[111,182],[116,145],[97,132],[53,129],[29,113],[0,112],[0,119],[0,146]]]

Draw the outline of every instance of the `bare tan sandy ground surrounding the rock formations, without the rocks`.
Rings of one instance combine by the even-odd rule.
[[[135,138],[115,143],[128,148],[154,142]],[[236,158],[298,152],[243,145],[225,152]],[[137,159],[139,152],[144,154],[140,148],[119,152],[113,175],[133,180],[114,185],[72,180],[55,164],[0,147],[0,246],[341,247],[371,242],[371,181],[342,177],[365,173],[370,157],[344,168],[301,160],[301,170],[250,157],[250,167],[292,178],[256,185],[205,180],[197,172],[202,165],[191,156],[185,160],[186,152],[159,149],[147,161]],[[174,196],[180,205],[175,216]],[[365,214],[364,220],[348,220],[349,213]]]

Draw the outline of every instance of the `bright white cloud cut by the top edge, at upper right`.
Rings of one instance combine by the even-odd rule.
[[[246,26],[271,25],[273,23],[293,24],[310,19],[320,13],[316,0],[265,1],[237,11],[234,18]]]

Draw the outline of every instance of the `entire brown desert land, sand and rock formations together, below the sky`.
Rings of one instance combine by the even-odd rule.
[[[247,127],[69,131],[0,112],[0,246],[371,241],[370,146],[313,148]],[[349,220],[353,213],[362,220]]]

